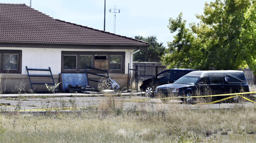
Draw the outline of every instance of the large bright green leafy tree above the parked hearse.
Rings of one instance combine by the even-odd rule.
[[[162,57],[168,68],[256,71],[255,0],[215,0],[205,3],[204,14],[196,15],[199,25],[189,24],[182,13],[169,19],[168,28],[177,32]]]

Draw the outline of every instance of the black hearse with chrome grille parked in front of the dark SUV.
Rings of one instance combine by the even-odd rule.
[[[225,93],[249,92],[249,86],[243,71],[219,70],[219,71],[193,71],[179,78],[173,84],[165,84],[156,87],[155,93],[169,94],[173,92],[178,96],[193,96],[196,90],[204,92],[209,88],[212,95]],[[217,96],[217,99],[223,97]],[[192,98],[182,98],[183,101],[192,102]],[[233,98],[233,101],[238,98]]]

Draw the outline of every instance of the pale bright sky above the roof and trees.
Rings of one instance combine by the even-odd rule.
[[[158,42],[173,40],[168,20],[180,12],[184,20],[196,22],[195,14],[203,14],[205,2],[213,0],[106,0],[106,31],[113,32],[113,13],[110,8],[120,9],[116,14],[116,34],[127,37],[157,36]],[[29,0],[0,0],[0,3],[25,3]],[[32,0],[32,8],[56,19],[103,30],[104,0]]]

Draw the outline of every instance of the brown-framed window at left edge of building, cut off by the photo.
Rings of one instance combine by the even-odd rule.
[[[0,73],[18,73],[22,69],[22,50],[0,50]]]

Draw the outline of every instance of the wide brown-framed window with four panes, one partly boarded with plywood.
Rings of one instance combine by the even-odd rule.
[[[84,64],[97,69],[113,70],[111,73],[124,72],[125,52],[106,51],[61,51],[61,73],[86,73]],[[95,69],[92,73],[102,73]]]

